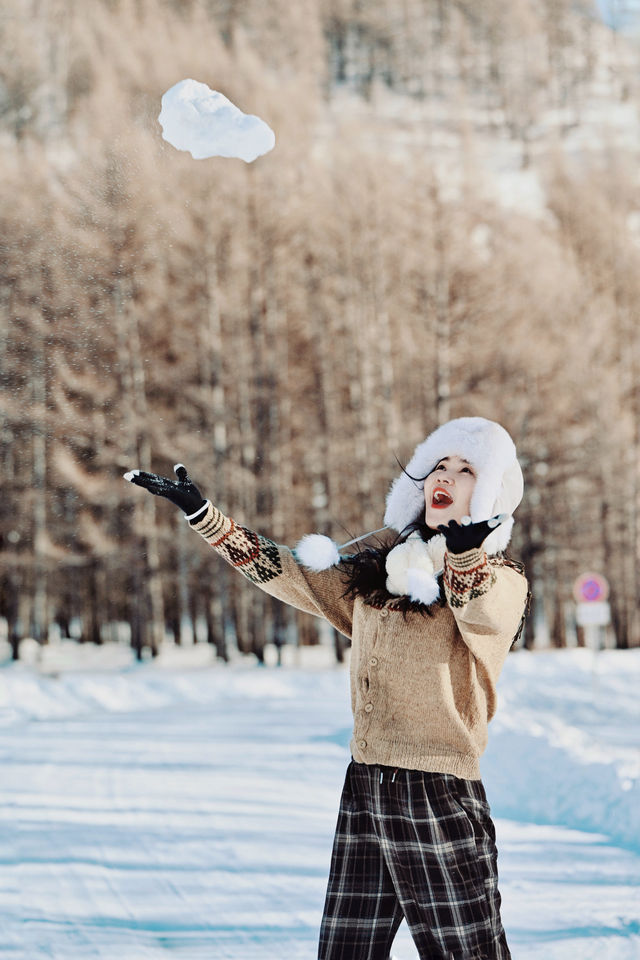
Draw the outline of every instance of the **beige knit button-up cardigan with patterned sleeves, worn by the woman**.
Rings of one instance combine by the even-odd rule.
[[[340,567],[314,573],[287,548],[209,504],[195,530],[261,589],[324,617],[352,641],[351,753],[361,763],[480,779],[496,683],[527,581],[482,549],[445,554],[446,606],[403,614],[343,596]]]

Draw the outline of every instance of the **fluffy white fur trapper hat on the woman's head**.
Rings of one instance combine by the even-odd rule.
[[[499,423],[484,417],[449,420],[418,444],[406,472],[391,485],[384,522],[400,533],[421,516],[425,478],[440,460],[456,454],[468,460],[476,473],[470,506],[474,523],[499,513],[508,515],[484,543],[487,553],[499,553],[511,539],[511,515],[522,500],[524,481],[513,440]]]

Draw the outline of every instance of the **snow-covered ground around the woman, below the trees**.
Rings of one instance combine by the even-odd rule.
[[[2,960],[314,960],[348,676],[285,652],[4,664]],[[514,960],[640,958],[640,650],[519,652],[499,691],[483,774]],[[417,956],[406,927],[394,953]]]

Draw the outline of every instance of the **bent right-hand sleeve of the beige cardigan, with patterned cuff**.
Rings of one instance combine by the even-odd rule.
[[[445,553],[443,580],[462,639],[497,678],[524,613],[526,579],[512,567],[491,563],[479,548]]]

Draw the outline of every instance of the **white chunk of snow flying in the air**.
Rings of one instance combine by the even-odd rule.
[[[260,117],[243,113],[217,90],[197,80],[180,80],[162,97],[162,136],[194,160],[237,157],[251,163],[272,150],[273,130]]]

